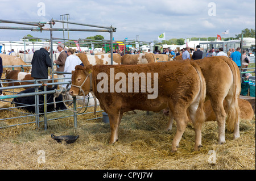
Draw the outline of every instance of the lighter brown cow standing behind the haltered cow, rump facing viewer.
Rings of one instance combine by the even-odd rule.
[[[227,128],[230,131],[234,131],[234,139],[240,137],[238,98],[241,91],[241,79],[238,66],[234,61],[225,56],[208,57],[193,60],[192,62],[200,66],[207,83],[207,99],[210,99],[213,111],[217,117],[216,121],[218,122],[218,144],[225,142],[226,112],[223,106],[224,99],[228,104]],[[168,125],[170,124],[171,122],[168,123]]]

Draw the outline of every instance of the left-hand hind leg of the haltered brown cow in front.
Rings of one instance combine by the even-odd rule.
[[[172,140],[172,151],[177,151],[177,147],[179,146],[179,142],[188,123],[188,116],[186,110],[181,107],[177,110],[172,111],[177,124],[177,131],[174,136],[174,140]]]

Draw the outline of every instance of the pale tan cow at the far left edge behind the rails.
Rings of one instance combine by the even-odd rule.
[[[0,54],[3,60],[3,66],[11,66],[11,65],[27,65],[23,60],[19,57],[11,56],[8,54]],[[21,68],[14,68],[14,70],[20,70]],[[24,67],[24,71],[29,71],[30,67]]]

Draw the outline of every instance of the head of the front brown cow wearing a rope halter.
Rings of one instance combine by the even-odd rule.
[[[72,96],[77,95],[88,95],[90,91],[90,77],[89,74],[92,72],[92,65],[81,66],[77,65],[75,71],[72,71],[72,85],[69,90],[69,94]],[[84,91],[84,94],[82,91]]]

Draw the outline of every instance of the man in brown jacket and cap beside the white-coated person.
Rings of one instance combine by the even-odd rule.
[[[57,58],[57,60],[55,60],[55,64],[57,65],[57,69],[56,71],[64,71],[64,67],[65,67],[65,61],[68,57],[67,53],[64,52],[64,44],[63,43],[59,43],[57,46],[57,49],[60,52],[59,57]],[[64,75],[61,73],[56,73],[58,75],[58,78],[64,78]],[[58,82],[63,82],[63,79],[59,79]]]

